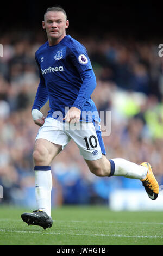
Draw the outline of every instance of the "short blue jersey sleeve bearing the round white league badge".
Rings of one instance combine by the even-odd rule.
[[[82,45],[68,48],[68,58],[79,74],[85,70],[93,69],[86,48]]]

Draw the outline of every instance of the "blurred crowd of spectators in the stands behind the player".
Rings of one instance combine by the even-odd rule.
[[[96,74],[92,94],[98,111],[111,111],[111,133],[103,136],[107,157],[150,162],[163,184],[163,57],[161,42],[106,34],[80,38]],[[44,32],[12,31],[0,35],[0,185],[1,203],[35,206],[32,153],[39,126],[31,108],[39,84],[34,54]],[[41,109],[48,111],[48,102]],[[108,204],[117,188],[143,189],[139,180],[93,175],[71,141],[52,163],[52,206]]]

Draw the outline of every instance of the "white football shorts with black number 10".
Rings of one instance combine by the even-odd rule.
[[[73,139],[80,150],[80,155],[86,160],[97,160],[102,157],[102,154],[106,155],[101,131],[96,131],[93,123],[61,123],[48,117],[40,127],[36,139],[46,139],[61,145],[62,150]]]

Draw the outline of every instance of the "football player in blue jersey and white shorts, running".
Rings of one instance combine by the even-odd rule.
[[[38,208],[21,217],[28,224],[40,225],[44,229],[52,227],[53,223],[51,162],[70,139],[78,145],[80,154],[95,175],[140,179],[152,200],[159,193],[149,163],[138,165],[121,158],[106,158],[98,111],[91,99],[96,77],[86,48],[66,35],[68,26],[64,9],[48,8],[42,21],[48,40],[35,53],[40,74],[32,107],[33,120],[40,126],[33,152]],[[50,110],[45,118],[40,109],[48,100]]]

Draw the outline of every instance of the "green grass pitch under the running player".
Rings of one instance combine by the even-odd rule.
[[[104,206],[52,209],[52,228],[24,223],[29,209],[0,205],[0,245],[163,245],[162,212],[113,212]]]

